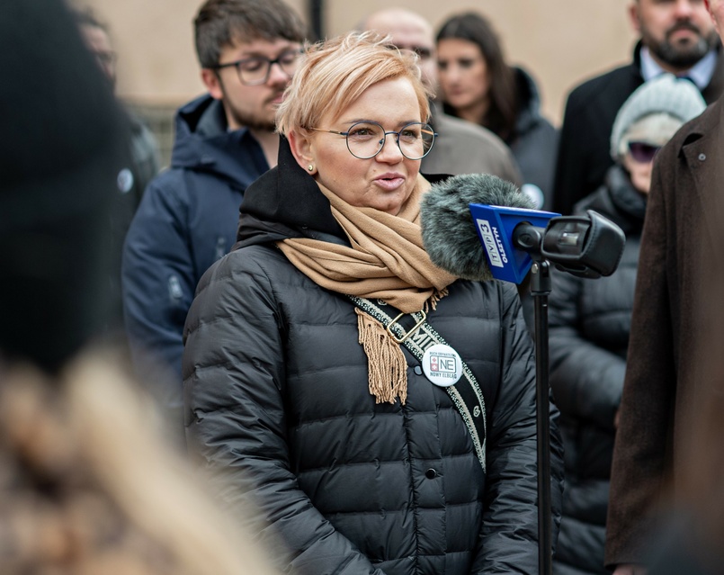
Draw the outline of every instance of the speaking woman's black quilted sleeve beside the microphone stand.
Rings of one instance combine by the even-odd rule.
[[[473,573],[538,573],[535,357],[514,288],[501,304],[501,384],[487,422],[487,500]],[[559,412],[550,404],[552,542],[563,492]]]

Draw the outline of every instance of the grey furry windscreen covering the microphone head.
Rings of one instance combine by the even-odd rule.
[[[535,206],[515,184],[490,174],[453,175],[423,196],[423,244],[434,265],[464,280],[492,280],[470,203],[529,210]]]

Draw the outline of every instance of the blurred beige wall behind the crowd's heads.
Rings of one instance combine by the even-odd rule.
[[[485,13],[507,59],[526,67],[541,90],[543,112],[559,124],[574,85],[630,59],[631,0],[398,0],[435,29],[452,13]],[[192,20],[201,0],[73,0],[106,22],[119,53],[118,93],[133,103],[179,105],[203,92]],[[308,0],[288,0],[308,21]],[[389,0],[325,0],[327,36],[352,29]]]

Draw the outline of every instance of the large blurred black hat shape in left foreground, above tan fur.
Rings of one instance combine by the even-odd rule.
[[[54,371],[108,318],[127,127],[58,0],[0,3],[0,349]]]

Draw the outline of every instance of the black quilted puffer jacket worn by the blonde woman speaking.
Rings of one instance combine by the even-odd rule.
[[[404,347],[407,403],[375,404],[352,301],[271,243],[345,241],[284,142],[280,165],[246,192],[239,235],[187,320],[187,438],[226,474],[213,489],[230,506],[251,491],[290,550],[277,552],[282,569],[536,573],[534,364],[514,286],[454,283],[428,316],[484,391],[486,474],[448,394]],[[558,524],[556,434],[552,443]]]

